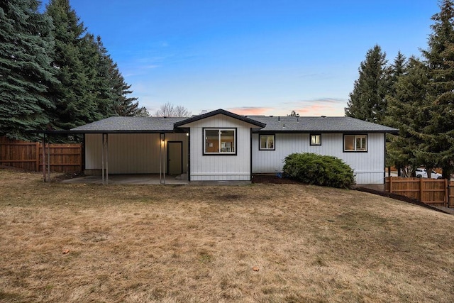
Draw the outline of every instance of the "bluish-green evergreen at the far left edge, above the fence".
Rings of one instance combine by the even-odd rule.
[[[55,84],[50,66],[52,21],[38,13],[35,0],[0,2],[0,136],[28,140],[26,130],[49,122],[47,85]]]

